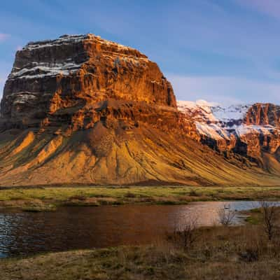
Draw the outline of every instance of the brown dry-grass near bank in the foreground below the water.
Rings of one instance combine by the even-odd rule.
[[[223,279],[280,278],[279,235],[268,241],[261,225],[201,228],[192,246],[149,246],[47,253],[0,260],[1,279]]]

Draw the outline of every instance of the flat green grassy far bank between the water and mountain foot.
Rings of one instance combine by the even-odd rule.
[[[274,187],[107,186],[2,188],[1,208],[55,211],[59,206],[188,204],[198,201],[280,200]]]

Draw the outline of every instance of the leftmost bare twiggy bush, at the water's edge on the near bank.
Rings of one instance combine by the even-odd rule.
[[[171,235],[167,235],[167,239],[172,241],[175,246],[183,247],[184,250],[187,250],[193,243],[197,240],[198,231],[197,231],[197,221],[198,218],[196,215],[190,216],[186,223],[179,227],[174,228],[174,232]]]

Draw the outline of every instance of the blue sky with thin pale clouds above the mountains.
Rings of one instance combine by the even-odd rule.
[[[177,99],[280,104],[279,0],[3,0],[0,6],[0,92],[16,50],[28,41],[93,33],[157,62]]]

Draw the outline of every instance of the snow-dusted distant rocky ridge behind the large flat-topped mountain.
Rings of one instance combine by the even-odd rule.
[[[178,102],[179,111],[192,119],[200,141],[217,151],[244,155],[265,166],[263,153],[278,160],[280,106],[244,104],[223,107],[207,102]]]

